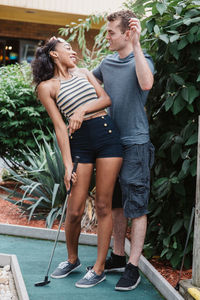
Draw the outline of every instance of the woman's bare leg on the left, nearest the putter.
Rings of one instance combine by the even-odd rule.
[[[81,231],[81,218],[84,213],[85,201],[88,196],[93,164],[78,164],[77,182],[72,187],[67,204],[65,219],[65,235],[68,261],[75,263],[78,257],[78,239]]]

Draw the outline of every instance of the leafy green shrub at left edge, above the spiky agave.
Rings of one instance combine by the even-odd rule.
[[[36,148],[33,134],[38,140],[42,132],[50,138],[46,128],[53,127],[36,99],[29,64],[1,67],[0,78],[0,157],[15,161],[21,155],[18,150]]]

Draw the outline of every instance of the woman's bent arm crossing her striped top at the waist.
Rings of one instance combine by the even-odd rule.
[[[110,97],[98,83],[94,75],[87,69],[80,69],[86,76],[88,81],[94,86],[98,100],[90,101],[77,108],[69,121],[69,133],[73,133],[81,127],[85,114],[102,110],[111,105]]]

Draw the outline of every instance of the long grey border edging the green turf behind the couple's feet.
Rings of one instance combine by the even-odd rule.
[[[37,239],[54,240],[57,230],[46,228],[35,228],[21,225],[0,223],[0,234],[23,236]],[[60,231],[58,241],[65,241],[65,233]],[[83,245],[97,245],[97,235],[81,233],[79,243]],[[111,242],[112,244],[112,242]],[[125,252],[130,254],[130,242],[126,239]],[[163,297],[167,300],[184,300],[184,298],[168,283],[168,281],[141,255],[139,268],[142,273],[151,281]]]

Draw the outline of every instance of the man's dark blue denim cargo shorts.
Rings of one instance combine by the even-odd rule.
[[[151,142],[123,146],[120,185],[116,183],[112,207],[123,207],[127,218],[138,218],[148,213],[150,169],[153,163],[154,146]]]

